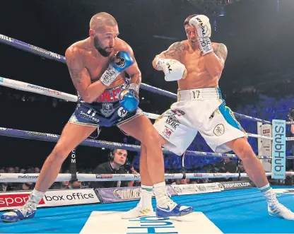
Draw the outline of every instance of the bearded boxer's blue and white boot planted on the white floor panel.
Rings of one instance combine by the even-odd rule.
[[[194,211],[192,206],[182,206],[181,204],[176,204],[175,201],[172,201],[167,195],[165,182],[153,186],[153,192],[157,202],[155,213],[158,218],[185,216]]]

